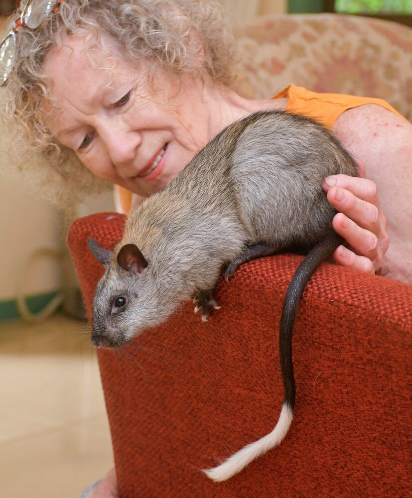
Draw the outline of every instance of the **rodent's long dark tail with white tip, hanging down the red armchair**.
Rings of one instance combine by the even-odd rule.
[[[293,420],[296,395],[292,362],[292,332],[297,306],[306,283],[315,269],[333,253],[342,241],[342,237],[333,232],[317,244],[300,263],[287,288],[279,329],[279,355],[284,385],[284,401],[274,430],[258,441],[248,444],[221,465],[213,469],[203,470],[213,481],[227,481],[253,460],[275,448],[287,434]]]

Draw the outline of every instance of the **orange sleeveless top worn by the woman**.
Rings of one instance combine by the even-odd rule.
[[[287,98],[286,112],[300,114],[307,118],[315,119],[330,131],[332,131],[333,125],[342,113],[348,109],[353,109],[365,104],[376,104],[406,120],[406,118],[382,99],[341,94],[320,94],[306,90],[303,87],[296,87],[295,85],[289,85],[272,98]],[[118,211],[121,213],[128,213],[131,210],[132,196],[132,192],[129,192],[119,185],[115,185],[115,200]]]

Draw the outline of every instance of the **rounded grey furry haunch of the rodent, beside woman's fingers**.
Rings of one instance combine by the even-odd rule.
[[[331,230],[322,181],[356,176],[356,163],[323,126],[284,112],[254,115],[236,141],[231,179],[254,240],[310,247]]]

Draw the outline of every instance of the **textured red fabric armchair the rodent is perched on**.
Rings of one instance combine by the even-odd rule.
[[[77,220],[68,242],[91,315],[124,216]],[[283,387],[278,321],[300,256],[243,265],[220,281],[208,323],[185,303],[161,327],[99,364],[121,498],[407,497],[411,490],[412,286],[322,264],[293,336],[295,419],[282,444],[230,481],[212,467],[270,432]]]

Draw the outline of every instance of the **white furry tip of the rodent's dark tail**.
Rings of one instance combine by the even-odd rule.
[[[213,469],[205,469],[203,472],[217,483],[227,481],[235,474],[243,470],[256,458],[259,458],[267,453],[272,448],[275,448],[282,439],[286,436],[290,424],[293,420],[293,412],[289,405],[283,403],[280,412],[279,420],[275,425],[274,430],[254,443],[248,444],[230,458],[225,460],[221,465]]]

